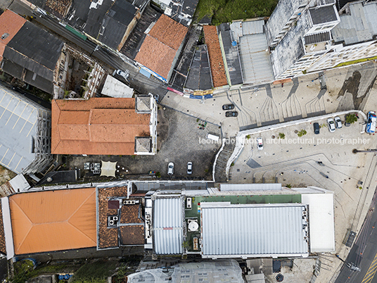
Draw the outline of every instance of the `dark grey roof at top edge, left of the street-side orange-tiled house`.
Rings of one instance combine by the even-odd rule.
[[[107,46],[117,49],[129,23],[136,15],[136,7],[126,0],[117,0],[103,18],[103,25],[98,40]]]

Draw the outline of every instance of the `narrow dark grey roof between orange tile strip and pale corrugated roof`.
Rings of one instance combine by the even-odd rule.
[[[232,45],[231,28],[229,23],[222,23],[217,27],[217,31],[221,33],[222,45],[226,57],[227,70],[230,77],[230,84],[243,84],[243,75],[241,71],[241,62],[238,55],[238,47]]]

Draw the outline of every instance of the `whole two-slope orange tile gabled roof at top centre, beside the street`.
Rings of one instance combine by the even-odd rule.
[[[135,61],[167,79],[187,30],[184,25],[162,14],[141,44]]]

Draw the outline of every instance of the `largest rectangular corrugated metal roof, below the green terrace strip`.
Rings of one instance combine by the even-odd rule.
[[[300,204],[200,203],[202,256],[307,256]]]

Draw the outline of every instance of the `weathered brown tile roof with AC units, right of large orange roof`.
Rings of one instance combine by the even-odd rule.
[[[115,196],[127,196],[127,187],[98,188],[98,249],[119,246],[118,228],[108,228],[108,216],[117,215],[117,209],[108,208],[108,200]]]

